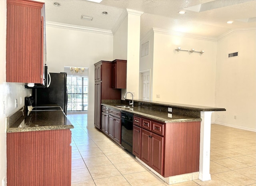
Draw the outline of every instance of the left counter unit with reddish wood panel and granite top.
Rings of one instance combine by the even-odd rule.
[[[73,128],[62,110],[7,117],[8,186],[70,186]]]

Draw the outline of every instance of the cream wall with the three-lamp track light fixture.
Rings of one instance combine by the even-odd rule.
[[[205,53],[177,52],[177,47]],[[153,101],[214,107],[216,56],[215,41],[155,32]]]

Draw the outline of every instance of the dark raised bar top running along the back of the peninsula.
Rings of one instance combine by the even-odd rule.
[[[132,99],[126,99],[132,100]],[[142,103],[152,103],[155,105],[163,105],[168,107],[176,107],[182,109],[189,109],[189,110],[197,110],[197,111],[226,111],[224,108],[218,107],[206,107],[206,106],[198,106],[198,105],[186,105],[186,104],[179,104],[179,103],[168,103],[168,102],[160,102],[160,101],[147,101],[143,99],[134,99],[134,102],[142,102]]]

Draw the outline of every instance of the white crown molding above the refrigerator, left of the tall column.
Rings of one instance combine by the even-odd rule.
[[[64,28],[64,29],[69,29],[69,30],[78,30],[78,31],[83,31],[83,32],[92,32],[92,33],[96,33],[96,34],[106,34],[106,35],[113,36],[113,33],[111,30],[104,30],[104,29],[100,29],[100,28],[77,26],[77,25],[64,24],[64,23],[51,22],[51,21],[46,21],[46,26],[55,27],[55,28]]]

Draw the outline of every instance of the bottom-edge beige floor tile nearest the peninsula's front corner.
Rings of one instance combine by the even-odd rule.
[[[156,178],[149,171],[126,174],[124,175],[124,178],[126,178],[132,186],[152,186],[156,184],[163,184],[163,181],[160,181],[160,179]]]

